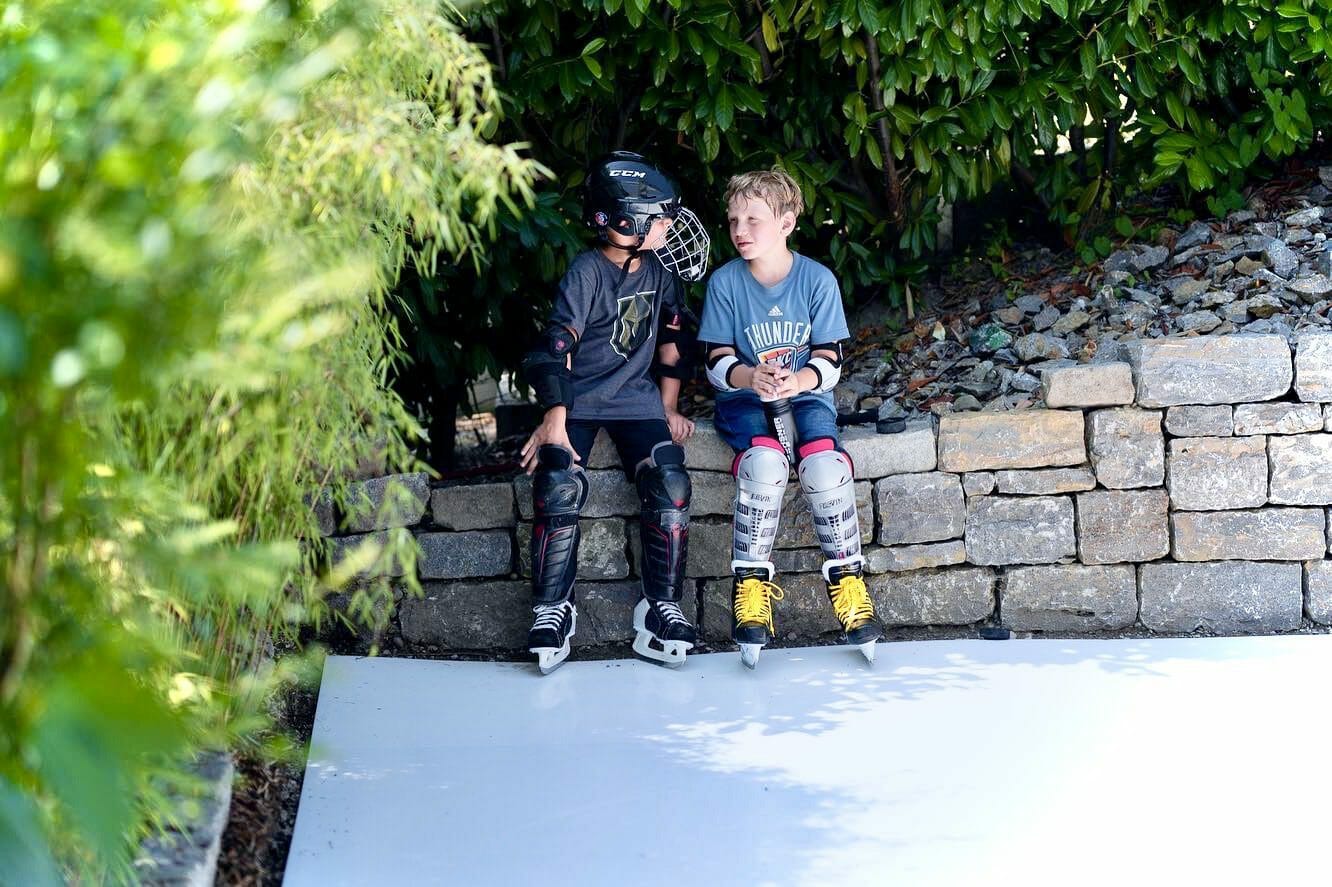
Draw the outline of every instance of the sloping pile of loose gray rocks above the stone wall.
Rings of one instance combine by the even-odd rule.
[[[1128,245],[1082,276],[1032,250],[1024,258],[1043,273],[1024,292],[972,297],[920,317],[891,345],[862,348],[838,409],[876,410],[895,428],[922,413],[1059,406],[1050,370],[1123,361],[1136,340],[1275,333],[1293,345],[1301,329],[1332,324],[1332,166],[1319,178],[1285,194],[1280,210],[1255,198],[1224,220]]]

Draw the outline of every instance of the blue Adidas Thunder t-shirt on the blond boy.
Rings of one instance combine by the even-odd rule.
[[[791,272],[774,286],[754,280],[743,258],[733,258],[713,272],[698,338],[710,345],[733,346],[750,366],[777,364],[791,372],[809,362],[813,345],[847,338],[836,277],[813,258],[793,256]],[[759,405],[751,389],[718,392],[717,397],[747,398]],[[831,392],[806,392],[795,400],[807,398],[819,400],[836,412]]]

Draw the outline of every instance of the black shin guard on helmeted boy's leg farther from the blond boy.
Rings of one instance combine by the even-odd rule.
[[[587,475],[562,446],[537,453],[531,481],[531,591],[537,603],[569,599],[578,573],[578,511],[587,501]]]

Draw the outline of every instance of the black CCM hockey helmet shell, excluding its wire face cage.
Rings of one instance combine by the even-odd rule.
[[[602,238],[606,230],[646,237],[653,221],[675,218],[679,210],[675,182],[631,150],[602,157],[583,190],[583,221]]]

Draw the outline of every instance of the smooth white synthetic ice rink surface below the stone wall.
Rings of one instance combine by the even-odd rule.
[[[330,658],[288,887],[1332,884],[1332,637],[577,655]]]

